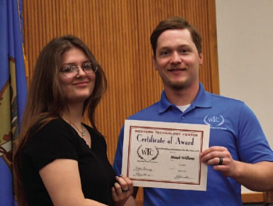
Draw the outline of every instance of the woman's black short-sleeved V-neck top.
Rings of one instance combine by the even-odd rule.
[[[94,129],[84,126],[92,139],[91,148],[62,118],[50,121],[27,142],[22,175],[29,206],[53,205],[39,170],[55,159],[77,160],[84,197],[113,205],[111,187],[116,173],[107,158],[106,141]]]

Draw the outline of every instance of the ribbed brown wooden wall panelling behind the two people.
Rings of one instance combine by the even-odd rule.
[[[150,35],[170,16],[183,16],[199,29],[204,55],[200,79],[206,90],[219,93],[215,0],[23,1],[29,81],[42,47],[66,34],[81,38],[105,70],[108,90],[96,118],[111,163],[124,119],[160,98],[163,86],[152,66]],[[141,190],[140,204],[142,199]]]

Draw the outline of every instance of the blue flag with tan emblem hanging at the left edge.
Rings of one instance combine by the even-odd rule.
[[[18,136],[27,97],[22,0],[0,0],[0,205],[16,205],[12,142]]]

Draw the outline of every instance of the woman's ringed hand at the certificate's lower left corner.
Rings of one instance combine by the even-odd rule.
[[[114,187],[111,188],[112,198],[115,202],[116,206],[124,205],[127,199],[131,196],[133,192],[133,184],[132,181],[120,175],[116,177],[117,182]]]

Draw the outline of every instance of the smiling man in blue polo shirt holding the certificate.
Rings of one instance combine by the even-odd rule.
[[[180,17],[159,23],[151,35],[153,65],[164,91],[161,100],[128,119],[210,124],[207,190],[144,188],[144,205],[242,205],[241,184],[255,191],[273,190],[273,152],[254,113],[245,103],[204,91],[201,36]],[[217,124],[209,123],[218,118]],[[121,173],[122,128],[114,169]],[[129,202],[128,202],[129,203]],[[128,204],[129,205],[129,204]]]

